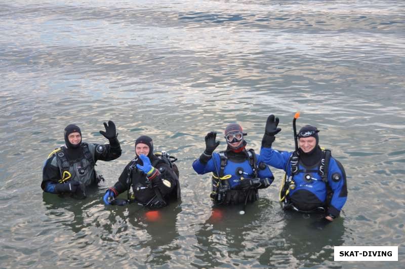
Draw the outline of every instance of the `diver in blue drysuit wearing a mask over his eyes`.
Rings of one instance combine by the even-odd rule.
[[[267,188],[273,182],[273,174],[253,149],[246,149],[247,142],[239,124],[226,126],[225,151],[213,153],[218,147],[216,132],[205,137],[206,149],[192,164],[195,172],[212,172],[211,199],[214,204],[240,204],[258,200],[258,189]]]

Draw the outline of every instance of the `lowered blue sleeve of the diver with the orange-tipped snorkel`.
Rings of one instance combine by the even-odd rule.
[[[337,217],[347,200],[347,183],[343,166],[332,157],[329,161],[328,183],[333,191],[328,214]]]

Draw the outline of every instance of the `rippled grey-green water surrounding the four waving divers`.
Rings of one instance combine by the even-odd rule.
[[[405,257],[404,10],[394,0],[0,2],[1,267],[401,267],[335,262],[333,246],[399,246]],[[274,113],[274,147],[292,150],[296,111],[346,169],[342,217],[322,227],[282,212],[275,169],[245,215],[213,211],[209,175],[191,168],[204,135],[239,122],[259,151]],[[104,142],[109,119],[124,153],[98,162],[99,189],[83,201],[43,194],[63,128]],[[179,159],[182,202],[157,221],[102,203],[141,134]]]

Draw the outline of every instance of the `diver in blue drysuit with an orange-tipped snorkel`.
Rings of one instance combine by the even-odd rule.
[[[322,149],[316,127],[306,125],[296,132],[293,121],[295,151],[271,148],[275,135],[281,131],[278,118],[267,118],[260,154],[266,164],[283,169],[285,177],[280,188],[280,204],[285,210],[306,213],[325,213],[333,221],[339,216],[347,200],[346,174],[342,164],[331,156],[331,150]]]

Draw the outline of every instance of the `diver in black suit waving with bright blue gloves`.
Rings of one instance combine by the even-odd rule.
[[[122,206],[136,202],[148,208],[161,208],[171,200],[180,200],[179,171],[173,164],[177,159],[165,151],[153,153],[153,140],[146,135],[135,141],[135,155],[114,186],[107,189],[104,203]],[[124,191],[127,199],[116,199]]]

